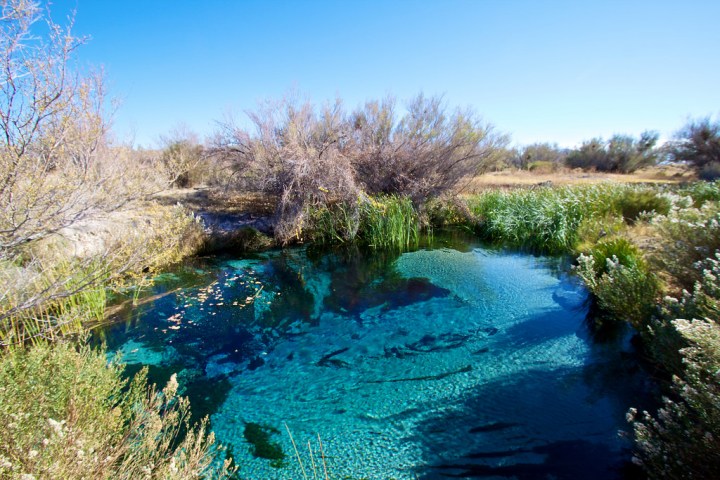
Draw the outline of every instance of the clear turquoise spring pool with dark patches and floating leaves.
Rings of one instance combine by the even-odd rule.
[[[645,377],[626,341],[590,337],[565,261],[435,243],[198,259],[97,339],[177,373],[240,478],[303,478],[286,425],[309,478],[318,438],[334,479],[625,478]],[[284,461],[253,455],[248,423]]]

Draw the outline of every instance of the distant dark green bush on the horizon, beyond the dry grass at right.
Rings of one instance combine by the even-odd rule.
[[[571,150],[565,163],[570,168],[593,169],[602,172],[631,173],[657,162],[656,132],[644,132],[639,139],[615,135],[605,142],[594,138]]]

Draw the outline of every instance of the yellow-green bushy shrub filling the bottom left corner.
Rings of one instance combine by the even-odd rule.
[[[188,424],[173,376],[157,392],[127,384],[102,351],[68,344],[0,357],[0,477],[225,478],[206,421]],[[184,435],[183,435],[183,432]]]

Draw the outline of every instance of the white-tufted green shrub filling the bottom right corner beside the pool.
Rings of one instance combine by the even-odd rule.
[[[707,259],[693,293],[666,300],[655,335],[682,362],[675,368],[672,392],[656,415],[631,409],[636,462],[651,478],[716,478],[720,475],[720,261]],[[681,347],[678,352],[678,345]],[[672,347],[675,347],[672,352]]]

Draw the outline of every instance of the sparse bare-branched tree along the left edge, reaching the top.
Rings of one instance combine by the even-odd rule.
[[[102,75],[69,67],[82,44],[72,20],[61,26],[36,2],[0,1],[0,345],[76,325],[77,312],[61,313],[64,299],[147,260],[147,245],[51,254],[59,232],[148,192],[144,172],[108,145]]]

